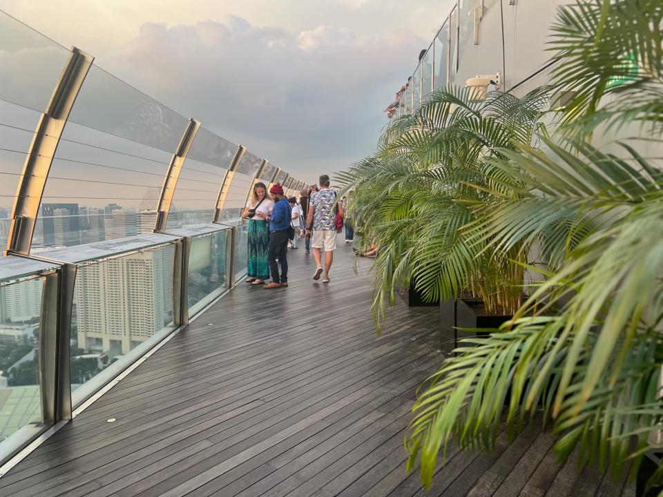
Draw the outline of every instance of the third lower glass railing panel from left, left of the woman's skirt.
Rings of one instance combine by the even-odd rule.
[[[229,288],[228,243],[231,232],[218,231],[193,237],[189,256],[189,316]]]

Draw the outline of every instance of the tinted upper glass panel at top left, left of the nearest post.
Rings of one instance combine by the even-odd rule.
[[[63,46],[0,11],[0,99],[44,112],[69,55]]]

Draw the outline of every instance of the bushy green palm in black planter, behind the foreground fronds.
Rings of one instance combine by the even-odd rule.
[[[374,264],[372,309],[378,324],[395,289],[414,282],[430,300],[467,292],[489,311],[514,313],[521,304],[527,241],[500,256],[482,255],[485,244],[470,244],[462,226],[474,212],[501,196],[490,160],[499,150],[535,144],[544,130],[547,88],[517,99],[493,93],[470,100],[468,90],[434,92],[410,117],[387,129],[378,153],[337,175],[353,189],[357,225],[365,242],[379,246]]]

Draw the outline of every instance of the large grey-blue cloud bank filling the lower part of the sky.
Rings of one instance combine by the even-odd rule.
[[[215,133],[315,177],[371,152],[386,123],[381,110],[424,45],[404,29],[293,33],[229,17],[144,23],[111,66]]]

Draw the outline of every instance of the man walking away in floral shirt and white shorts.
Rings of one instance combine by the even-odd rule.
[[[336,250],[336,222],[334,210],[338,205],[338,212],[343,216],[343,206],[338,204],[336,192],[329,189],[329,176],[320,176],[320,191],[311,195],[309,213],[306,220],[306,235],[311,236],[313,228],[313,257],[316,260],[314,280],[319,280],[323,274],[323,283],[329,283],[329,270],[332,269],[334,251]],[[323,270],[321,251],[325,249],[325,268]]]

